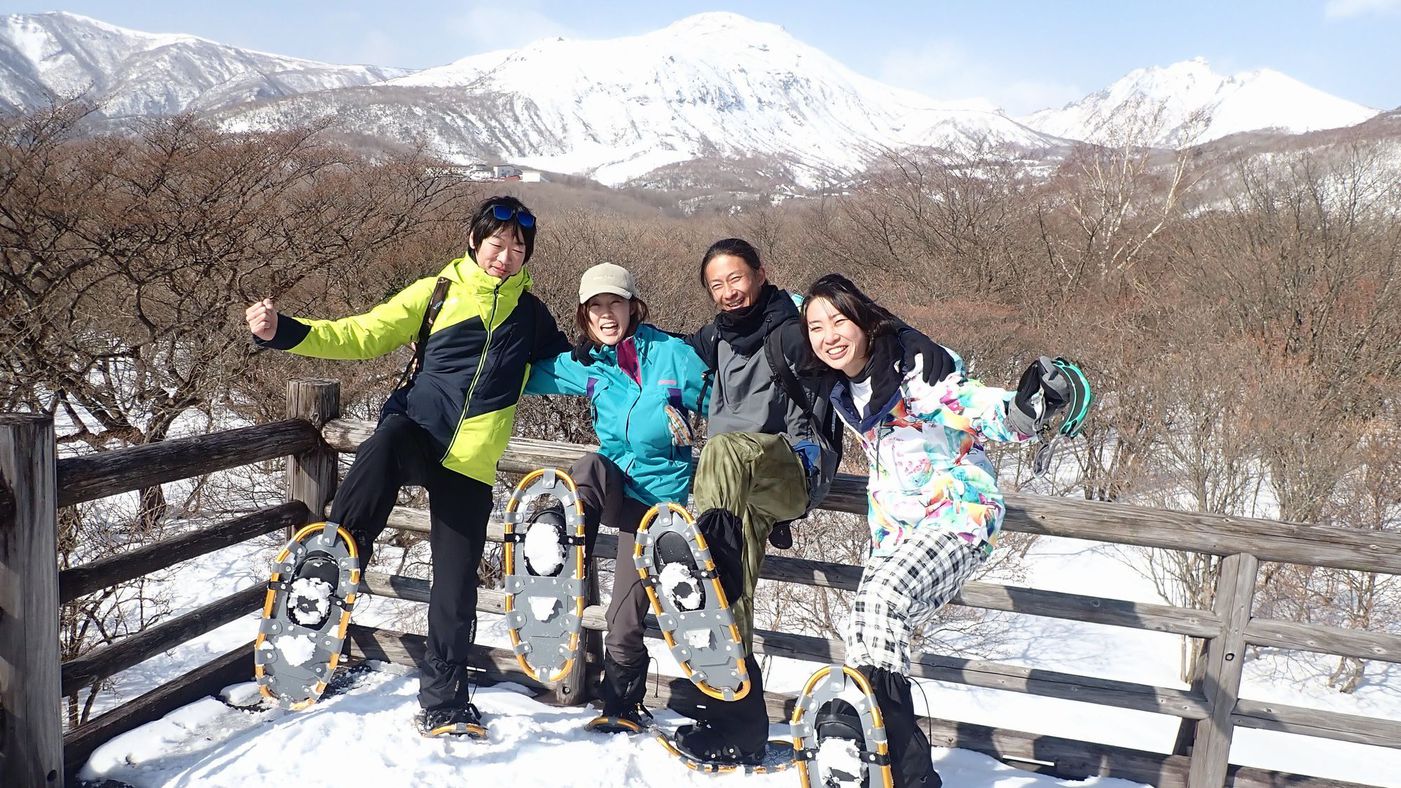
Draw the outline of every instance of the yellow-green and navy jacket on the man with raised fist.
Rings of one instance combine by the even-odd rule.
[[[496,463],[516,422],[530,365],[569,348],[549,310],[531,292],[525,269],[504,280],[468,257],[440,276],[451,280],[425,346],[423,367],[384,414],[399,412],[426,429],[443,466],[496,481]],[[373,310],[342,320],[277,315],[277,334],[259,345],[319,359],[373,359],[417,339],[436,276],[419,279]]]

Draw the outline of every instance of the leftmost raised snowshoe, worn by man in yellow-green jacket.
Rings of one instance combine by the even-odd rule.
[[[254,641],[254,676],[265,697],[300,709],[326,691],[359,587],[360,557],[345,529],[312,523],[291,537],[273,559]]]

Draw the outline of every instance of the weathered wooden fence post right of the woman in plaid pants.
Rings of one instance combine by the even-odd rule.
[[[1187,774],[1189,788],[1219,788],[1226,784],[1230,743],[1236,733],[1231,715],[1240,698],[1245,667],[1245,625],[1250,624],[1255,602],[1258,572],[1259,559],[1247,552],[1237,552],[1222,561],[1216,603],[1212,606],[1222,617],[1222,634],[1206,644],[1206,674],[1202,677],[1202,690],[1212,714],[1196,722]]]

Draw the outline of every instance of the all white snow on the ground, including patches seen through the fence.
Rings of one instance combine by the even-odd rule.
[[[179,565],[161,582],[172,593],[172,607],[186,610],[247,587],[266,576],[276,537],[220,550]],[[382,551],[388,555],[389,548]],[[1160,603],[1152,583],[1129,564],[1132,551],[1094,543],[1041,538],[1031,548],[1024,585]],[[391,566],[392,568],[392,566]],[[762,590],[761,590],[762,593]],[[356,621],[366,625],[422,631],[423,606],[366,597]],[[1101,676],[1126,681],[1182,687],[1177,679],[1178,641],[1173,635],[1121,630],[1031,616],[999,614],[1007,637],[985,659]],[[256,618],[249,616],[202,635],[167,655],[118,676],[116,691],[132,698],[154,686],[252,641]],[[504,621],[481,616],[479,642],[509,646]],[[679,669],[661,644],[649,641],[656,670],[677,676]],[[1401,718],[1401,669],[1373,663],[1369,679],[1352,695],[1331,691],[1324,677],[1331,659],[1309,659],[1265,651],[1247,665],[1244,697],[1302,707],[1330,708],[1369,716]],[[768,660],[771,691],[796,693],[817,666],[790,659]],[[90,761],[85,777],[109,777],[132,785],[259,785],[286,775],[289,753],[297,753],[301,785],[339,785],[346,778],[380,777],[385,784],[434,785],[511,781],[516,785],[792,785],[796,777],[713,777],[693,774],[658,745],[625,736],[601,738],[581,731],[593,709],[559,708],[537,702],[518,687],[482,688],[478,700],[488,715],[486,743],[422,739],[412,725],[416,679],[392,672],[370,672],[340,695],[304,712],[277,709],[248,712],[217,700],[205,700],[163,721],[120,736]],[[961,684],[918,681],[916,705],[933,716],[995,725],[1055,736],[1166,752],[1178,719],[1138,711],[1110,709],[1075,701]],[[99,707],[109,708],[105,695]],[[245,701],[240,701],[245,702]],[[679,718],[663,712],[675,725]],[[775,736],[786,726],[775,725]],[[542,757],[541,757],[542,756]],[[1129,782],[1098,780],[1068,782],[1003,766],[967,750],[934,749],[937,768],[948,785],[1049,787]],[[1401,787],[1401,753],[1324,739],[1237,729],[1233,763],[1314,774],[1373,785]],[[560,768],[567,764],[567,768]]]

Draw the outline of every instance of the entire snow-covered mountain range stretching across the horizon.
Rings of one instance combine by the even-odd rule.
[[[604,184],[838,186],[891,151],[1054,163],[1076,140],[1181,147],[1351,126],[1374,109],[1278,72],[1139,69],[1013,119],[863,77],[782,27],[703,13],[604,41],[551,38],[408,72],[336,66],[50,13],[0,17],[0,112],[83,94],[105,125],[193,112],[230,132],[325,123],[371,150],[514,163]],[[726,186],[730,188],[730,186]]]

